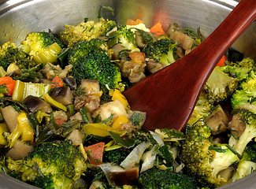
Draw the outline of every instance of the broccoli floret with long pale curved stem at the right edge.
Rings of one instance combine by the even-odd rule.
[[[237,114],[246,124],[246,127],[242,134],[239,136],[239,139],[236,139],[236,141],[232,143],[232,147],[239,154],[243,155],[243,151],[247,144],[250,143],[251,139],[256,137],[256,114],[247,109],[239,109]]]

